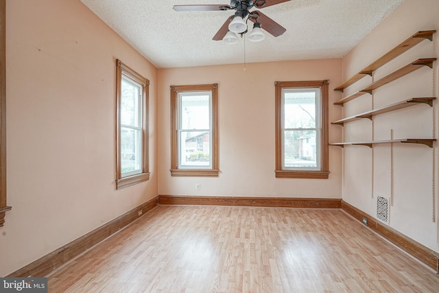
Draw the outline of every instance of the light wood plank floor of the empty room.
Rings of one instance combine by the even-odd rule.
[[[337,209],[158,206],[49,276],[49,292],[439,292]]]

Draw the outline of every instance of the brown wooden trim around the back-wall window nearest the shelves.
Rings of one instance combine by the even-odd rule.
[[[276,109],[276,178],[309,178],[327,179],[329,178],[329,143],[328,143],[328,92],[329,80],[313,80],[299,82],[274,82],[275,88],[275,109]],[[282,89],[283,88],[311,88],[320,87],[321,89],[321,115],[322,115],[322,137],[320,141],[320,171],[305,170],[283,170],[282,169]]]

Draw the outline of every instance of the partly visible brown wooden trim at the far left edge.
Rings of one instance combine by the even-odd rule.
[[[6,0],[0,0],[0,227],[10,209],[6,203]]]

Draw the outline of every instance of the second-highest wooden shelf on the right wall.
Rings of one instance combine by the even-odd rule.
[[[372,94],[372,91],[375,89],[378,89],[380,86],[383,86],[385,84],[388,84],[389,82],[392,82],[398,78],[403,77],[404,75],[407,75],[408,73],[415,71],[416,69],[420,69],[423,66],[428,66],[430,68],[433,68],[433,62],[436,60],[436,58],[421,58],[418,60],[415,60],[414,62],[410,63],[409,65],[405,65],[405,67],[402,67],[401,69],[398,69],[389,75],[381,78],[381,80],[377,80],[376,82],[373,82],[369,86],[367,86],[365,89],[362,89],[361,91],[357,91],[357,93],[354,93],[353,95],[348,95],[347,97],[344,97],[343,99],[338,100],[334,103],[334,105],[340,105],[343,106],[344,103],[349,102],[361,95],[364,95],[365,93]]]

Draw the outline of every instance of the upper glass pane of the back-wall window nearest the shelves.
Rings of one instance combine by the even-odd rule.
[[[284,128],[316,128],[316,91],[285,91]]]

